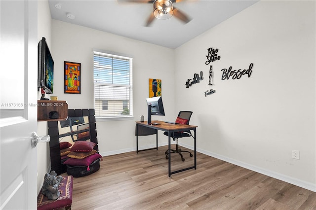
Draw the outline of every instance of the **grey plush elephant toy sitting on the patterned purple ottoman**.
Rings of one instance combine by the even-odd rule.
[[[61,180],[62,176],[57,176],[55,171],[51,171],[50,174],[45,174],[44,184],[41,189],[42,194],[45,195],[49,200],[57,200],[57,198],[60,196],[58,185]]]

